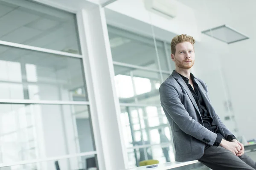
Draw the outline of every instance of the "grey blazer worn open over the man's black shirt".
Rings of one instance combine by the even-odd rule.
[[[201,79],[195,78],[195,82],[213,121],[219,127],[221,135],[227,139],[232,133],[215,113],[207,85]],[[172,75],[162,83],[159,92],[163,111],[172,128],[176,161],[200,159],[204,154],[205,144],[213,145],[217,134],[199,123],[202,117],[186,82],[176,71],[173,71]]]

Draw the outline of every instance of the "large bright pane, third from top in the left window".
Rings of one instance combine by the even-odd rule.
[[[0,163],[94,150],[88,106],[0,106]]]

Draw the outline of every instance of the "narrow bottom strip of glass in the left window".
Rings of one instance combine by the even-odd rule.
[[[97,167],[96,155],[90,155],[9,166],[3,170],[97,170]]]

